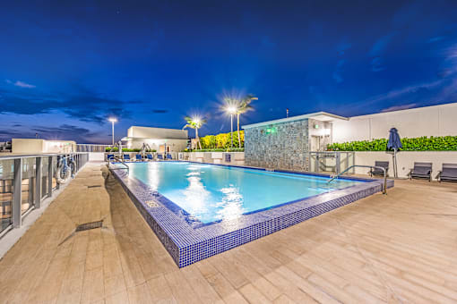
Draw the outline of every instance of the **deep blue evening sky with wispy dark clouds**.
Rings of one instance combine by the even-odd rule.
[[[8,1],[0,141],[110,143],[132,126],[241,124],[457,102],[457,1]],[[194,136],[194,131],[189,131]]]

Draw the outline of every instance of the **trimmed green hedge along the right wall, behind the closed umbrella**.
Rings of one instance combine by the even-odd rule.
[[[401,139],[402,151],[456,151],[457,136],[423,136]],[[385,151],[387,139],[373,139],[333,143],[327,146],[330,151]]]

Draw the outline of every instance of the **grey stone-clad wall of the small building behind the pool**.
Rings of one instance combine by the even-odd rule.
[[[245,129],[245,164],[308,171],[307,119]]]

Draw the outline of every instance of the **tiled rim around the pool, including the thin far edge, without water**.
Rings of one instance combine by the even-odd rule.
[[[267,170],[239,165],[223,166],[267,172],[330,177],[329,174],[321,173]],[[366,198],[376,192],[382,191],[384,184],[383,180],[341,177],[341,179],[364,183],[342,190],[333,190],[310,198],[284,203],[263,211],[241,215],[237,219],[193,227],[186,221],[185,211],[181,209],[183,213],[179,214],[177,210],[170,210],[170,206],[156,190],[152,190],[148,185],[134,177],[129,177],[125,170],[110,169],[110,172],[121,183],[125,192],[134,202],[135,207],[137,207],[142,217],[150,225],[152,231],[159,237],[178,267],[191,265],[204,258],[209,258],[223,251],[233,249],[246,242],[254,241],[317,215],[322,215],[325,212],[342,207],[360,198]],[[392,188],[393,183],[392,180],[387,180],[387,188]]]

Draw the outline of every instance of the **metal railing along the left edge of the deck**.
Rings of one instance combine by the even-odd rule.
[[[65,156],[73,156],[75,172],[89,161],[88,153],[0,156],[0,237],[59,189],[56,168]]]

